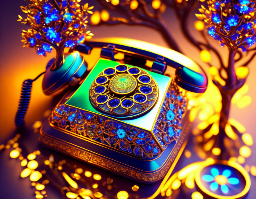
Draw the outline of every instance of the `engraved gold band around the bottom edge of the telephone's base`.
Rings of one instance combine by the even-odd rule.
[[[39,141],[43,145],[50,147],[54,150],[57,150],[61,153],[64,153],[73,158],[79,159],[81,161],[90,163],[94,166],[104,168],[105,170],[111,171],[121,176],[125,176],[129,179],[132,179],[138,182],[143,182],[143,183],[147,183],[147,182],[153,183],[161,180],[166,175],[170,167],[172,166],[172,163],[175,162],[175,159],[179,158],[179,156],[181,155],[183,149],[185,148],[183,145],[186,145],[187,143],[186,139],[187,139],[189,126],[190,124],[186,126],[184,132],[180,135],[180,138],[175,144],[175,147],[171,152],[172,154],[168,157],[168,160],[166,161],[166,163],[162,166],[162,168],[160,168],[158,171],[155,171],[153,173],[139,172],[132,168],[128,168],[118,163],[109,161],[105,158],[98,157],[97,155],[91,154],[79,148],[72,147],[65,142],[48,137],[42,132],[42,129],[40,130]]]

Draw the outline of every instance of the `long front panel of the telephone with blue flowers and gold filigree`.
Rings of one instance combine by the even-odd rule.
[[[74,107],[57,105],[49,120],[55,126],[141,158],[152,158],[160,153],[147,132]]]

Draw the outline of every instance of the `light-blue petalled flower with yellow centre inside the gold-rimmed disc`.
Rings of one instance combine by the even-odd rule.
[[[211,175],[205,174],[202,179],[206,182],[212,182],[210,185],[210,189],[212,191],[216,191],[220,185],[220,190],[223,193],[228,193],[228,186],[226,184],[238,184],[239,179],[230,177],[231,171],[229,169],[225,169],[222,172],[222,175],[219,174],[219,170],[217,168],[211,169]],[[214,182],[213,182],[214,181]]]

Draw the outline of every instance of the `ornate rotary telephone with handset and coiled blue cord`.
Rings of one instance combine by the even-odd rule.
[[[65,95],[44,122],[40,142],[140,182],[164,177],[186,137],[186,100],[178,86],[203,93],[204,71],[174,50],[127,38],[74,46],[57,70],[49,68],[53,60],[40,74],[43,91]],[[174,79],[164,75],[170,67]],[[16,126],[24,123],[37,78],[23,83]]]

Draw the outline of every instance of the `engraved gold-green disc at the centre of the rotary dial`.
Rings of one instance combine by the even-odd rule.
[[[137,80],[129,74],[118,74],[109,81],[112,92],[125,95],[133,92],[137,87]]]

